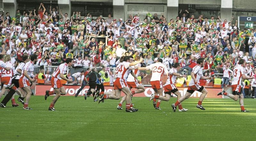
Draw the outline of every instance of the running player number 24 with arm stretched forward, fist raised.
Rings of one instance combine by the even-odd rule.
[[[114,78],[114,90],[115,92],[106,92],[102,95],[100,95],[99,103],[104,101],[104,99],[115,99],[119,100],[121,97],[121,91],[124,92],[126,96],[126,112],[136,112],[137,109],[131,108],[131,98],[132,98],[132,92],[128,88],[128,85],[126,84],[126,79],[129,75],[129,73],[132,73],[132,76],[137,78],[136,75],[133,73],[133,71],[130,71],[132,69],[137,68],[130,68],[131,66],[135,66],[136,64],[142,62],[143,59],[140,58],[139,61],[135,61],[130,63],[130,56],[125,56],[122,63],[119,63],[116,67],[116,76]]]

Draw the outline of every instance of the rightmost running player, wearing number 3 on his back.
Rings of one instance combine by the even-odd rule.
[[[242,79],[253,79],[254,77],[249,77],[246,76],[245,73],[245,60],[244,59],[240,59],[238,62],[238,65],[234,68],[233,70],[233,80],[232,80],[232,94],[231,93],[226,93],[224,90],[220,93],[218,93],[217,95],[226,95],[230,98],[232,98],[233,100],[237,101],[239,98],[239,103],[240,103],[240,107],[241,107],[241,112],[249,112],[246,111],[246,109],[244,109],[244,95],[241,92],[241,85],[242,85]]]

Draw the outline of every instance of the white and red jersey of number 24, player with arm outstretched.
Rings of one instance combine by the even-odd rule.
[[[116,78],[127,80],[127,77],[131,72],[131,71],[129,71],[129,68],[130,68],[130,63],[129,62],[119,63],[116,66],[116,75],[115,75],[115,78],[114,78],[114,82],[115,82]]]

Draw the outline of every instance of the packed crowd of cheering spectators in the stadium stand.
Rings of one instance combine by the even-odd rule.
[[[233,17],[195,17],[180,10],[176,19],[156,13],[146,17],[132,14],[128,19],[113,19],[109,14],[108,18],[93,19],[90,13],[82,18],[79,11],[68,15],[58,7],[45,9],[41,3],[38,10],[17,10],[16,17],[2,13],[0,23],[0,53],[9,54],[14,66],[23,55],[36,54],[38,66],[58,66],[72,58],[74,68],[104,66],[109,70],[116,67],[121,56],[132,55],[144,58],[142,67],[157,58],[162,58],[167,68],[178,62],[190,75],[197,59],[204,57],[204,75],[223,73],[223,87],[229,85],[236,62],[243,58],[246,75],[256,75],[256,32],[253,28],[238,29]],[[50,81],[49,70],[41,73],[45,83]],[[256,79],[243,84],[245,95],[253,90],[254,97]]]

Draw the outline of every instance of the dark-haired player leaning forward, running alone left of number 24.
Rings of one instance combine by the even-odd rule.
[[[73,60],[71,58],[67,58],[65,63],[60,64],[58,66],[58,68],[53,72],[51,83],[52,83],[52,87],[53,87],[53,90],[54,90],[54,93],[56,94],[56,96],[53,98],[52,103],[51,103],[50,107],[48,108],[49,111],[55,111],[54,104],[57,102],[60,95],[66,94],[66,90],[63,87],[63,85],[61,84],[60,78],[63,80],[66,80],[68,82],[73,82],[72,79],[68,79],[64,76],[68,67],[71,67],[72,65],[73,65]]]

